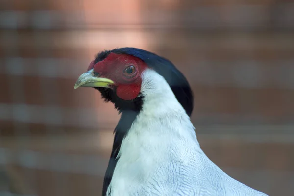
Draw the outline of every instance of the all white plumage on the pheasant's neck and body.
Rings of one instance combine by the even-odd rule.
[[[147,69],[142,78],[143,108],[123,139],[108,196],[267,196],[210,161],[161,75]]]

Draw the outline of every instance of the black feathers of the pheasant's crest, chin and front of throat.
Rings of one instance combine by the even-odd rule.
[[[151,69],[154,69],[157,73],[162,75],[170,85],[172,92],[174,93],[179,103],[183,106],[186,113],[191,116],[193,111],[193,93],[185,76],[175,68],[172,62],[146,50],[136,48],[119,48],[105,50],[98,53],[94,63],[104,60],[111,52],[117,54],[129,54],[138,57]],[[102,98],[104,98],[106,102],[111,101],[114,103],[115,108],[119,111],[119,113],[121,113],[119,123],[114,130],[115,135],[112,152],[104,176],[102,196],[106,196],[107,189],[112,180],[114,169],[119,159],[118,153],[121,149],[121,144],[129,129],[131,128],[134,120],[142,110],[143,97],[140,95],[133,100],[126,101],[116,95],[115,89],[96,89],[101,92]]]

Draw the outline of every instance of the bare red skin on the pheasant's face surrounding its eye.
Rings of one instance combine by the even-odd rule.
[[[128,66],[134,66],[136,70],[129,76],[124,73],[125,68]],[[99,61],[95,65],[91,62],[88,70],[94,68],[94,72],[98,73],[99,77],[114,81],[116,93],[119,98],[132,100],[137,98],[140,93],[142,84],[141,75],[147,67],[146,63],[132,55],[110,53],[107,58]]]

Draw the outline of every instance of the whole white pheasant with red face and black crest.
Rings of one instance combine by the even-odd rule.
[[[203,152],[190,120],[193,92],[167,58],[131,47],[103,50],[78,87],[98,90],[121,114],[102,196],[267,196]]]

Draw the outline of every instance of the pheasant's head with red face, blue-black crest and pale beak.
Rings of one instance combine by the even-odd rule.
[[[166,80],[168,87],[190,116],[193,95],[184,75],[169,60],[142,49],[119,48],[98,53],[87,72],[78,78],[74,89],[94,87],[106,101],[113,102],[120,112],[140,110],[142,99],[150,92],[147,91],[148,85],[143,85],[144,74],[148,70]]]

